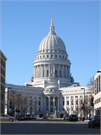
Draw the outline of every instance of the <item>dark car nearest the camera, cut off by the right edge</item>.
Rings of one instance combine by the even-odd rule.
[[[100,115],[95,115],[88,122],[88,127],[94,128],[95,126],[100,126]]]

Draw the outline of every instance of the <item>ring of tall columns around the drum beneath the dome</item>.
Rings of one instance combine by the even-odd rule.
[[[70,78],[70,66],[60,64],[43,64],[34,66],[34,77],[62,77]]]

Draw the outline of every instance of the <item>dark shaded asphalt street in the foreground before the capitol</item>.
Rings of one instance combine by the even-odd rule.
[[[87,122],[41,119],[2,122],[1,134],[100,134],[100,128],[88,128]]]

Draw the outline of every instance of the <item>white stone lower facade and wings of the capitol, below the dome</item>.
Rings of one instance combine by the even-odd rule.
[[[18,100],[18,98],[16,99],[16,97],[14,97],[14,101],[19,103],[19,106],[18,103],[15,104],[15,108],[17,110],[20,110],[20,113],[25,114],[33,112],[42,114],[48,113],[54,116],[57,115],[57,117],[60,117],[61,114],[64,115],[68,113],[68,114],[77,114],[78,117],[84,117],[84,110],[81,109],[82,103],[84,103],[84,89],[85,89],[85,105],[86,107],[88,107],[87,111],[91,109],[90,99],[93,93],[90,92],[87,86],[76,86],[76,87],[72,86],[60,89],[58,88],[44,89],[44,88],[7,84],[6,87],[7,88],[11,87],[12,88],[11,90],[14,90],[19,94],[21,94],[23,99],[22,98],[20,99],[19,97]],[[23,105],[20,104],[21,100],[23,100]],[[86,117],[89,116],[86,115]]]

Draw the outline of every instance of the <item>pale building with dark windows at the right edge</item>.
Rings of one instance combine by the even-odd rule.
[[[101,69],[94,76],[95,96],[94,96],[94,111],[95,114],[101,114]]]

